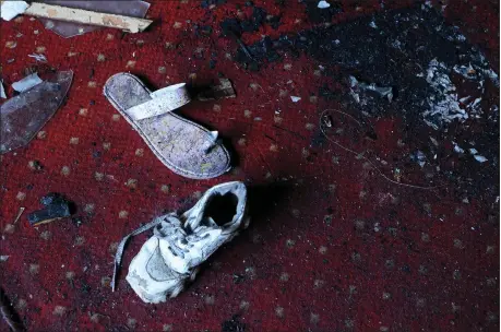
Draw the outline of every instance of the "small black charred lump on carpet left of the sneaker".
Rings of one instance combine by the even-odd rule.
[[[47,224],[59,218],[71,216],[72,203],[59,193],[49,193],[40,199],[45,209],[32,212],[27,218],[32,226]]]

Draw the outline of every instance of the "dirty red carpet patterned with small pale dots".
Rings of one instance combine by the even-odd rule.
[[[319,64],[330,64],[305,52],[246,69],[237,61],[238,44],[222,36],[219,24],[244,21],[253,8],[206,2],[216,5],[155,1],[147,14],[155,23],[141,34],[100,29],[64,39],[26,16],[1,22],[9,96],[10,85],[37,66],[29,54],[74,71],[65,105],[38,138],[1,156],[0,253],[9,258],[0,262],[0,287],[22,324],[28,331],[498,331],[498,122],[451,124],[436,135],[446,150],[433,182],[440,187],[394,185],[319,131],[327,108],[360,120],[355,104],[322,93],[325,86],[343,91],[345,78],[319,75]],[[327,20],[341,25],[413,1],[330,2],[342,12]],[[499,73],[499,3],[442,2],[450,2],[446,22],[478,45]],[[274,28],[269,17],[258,31],[243,32],[248,46],[325,21],[312,22],[296,0],[254,5],[279,24]],[[121,71],[153,90],[179,82],[196,88],[218,74],[230,79],[237,98],[194,100],[179,114],[217,129],[235,150],[235,168],[208,181],[167,169],[102,94],[106,80]],[[499,88],[492,91],[489,102],[499,106]],[[291,103],[290,96],[301,99]],[[490,104],[484,107],[488,119]],[[430,144],[431,130],[421,140],[395,114],[371,116],[377,139],[370,140],[341,114],[331,116],[345,128],[336,140],[367,151],[392,180],[396,168],[402,182],[420,186],[436,174],[434,166],[421,169],[409,159]],[[482,141],[489,131],[497,141]],[[490,145],[489,161],[457,157],[454,135]],[[29,166],[34,161],[41,169]],[[251,226],[211,258],[188,290],[162,305],[143,304],[133,293],[124,275],[145,234],[126,250],[111,293],[122,236],[164,212],[190,208],[201,192],[229,180],[249,186]],[[26,215],[41,208],[48,192],[64,194],[77,212],[34,228]],[[26,211],[12,225],[21,206]],[[4,322],[0,327],[8,331]]]

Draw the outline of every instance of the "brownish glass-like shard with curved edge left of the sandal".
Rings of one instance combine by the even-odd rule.
[[[73,80],[60,71],[0,106],[0,154],[29,143],[61,106]]]

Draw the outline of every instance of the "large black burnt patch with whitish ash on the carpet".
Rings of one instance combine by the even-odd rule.
[[[312,15],[310,21],[331,22],[331,16],[322,15],[337,2],[323,10],[317,8],[318,1],[303,3]],[[313,21],[313,16],[319,20]],[[379,22],[384,22],[384,27],[380,24],[373,28]],[[389,51],[387,47],[394,48],[394,51]],[[350,72],[351,75],[356,73],[357,79],[370,78],[371,82],[386,87],[381,92],[393,95],[390,107],[382,98],[362,98],[354,88],[341,97],[355,98],[363,115],[397,114],[408,123],[418,123],[419,119],[425,127],[433,129],[443,128],[454,118],[455,121],[463,121],[467,115],[469,118],[479,117],[485,108],[480,100],[484,100],[487,85],[482,85],[482,82],[490,79],[499,86],[497,73],[480,50],[468,44],[457,28],[444,21],[443,15],[428,7],[384,11],[329,28],[319,26],[296,35],[284,34],[275,39],[265,37],[248,45],[248,49],[260,66],[277,61],[284,54],[306,52],[324,66],[341,68],[341,72]],[[237,50],[235,59],[242,63],[249,62],[241,50]],[[468,83],[476,83],[478,88],[473,87],[468,93],[472,100],[480,99],[464,105],[465,109],[457,107],[457,91],[453,90],[456,78],[451,75],[457,72],[477,78]],[[353,84],[356,82],[353,81]],[[390,91],[389,86],[393,90]],[[422,132],[421,126],[411,127],[411,131]]]

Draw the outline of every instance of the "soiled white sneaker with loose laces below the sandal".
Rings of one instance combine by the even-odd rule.
[[[157,217],[124,237],[117,250],[112,287],[123,247],[131,236],[155,227],[153,237],[132,260],[127,281],[141,299],[156,304],[167,296],[176,297],[187,281],[194,280],[198,266],[248,225],[246,186],[215,186],[182,215]]]

